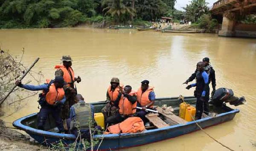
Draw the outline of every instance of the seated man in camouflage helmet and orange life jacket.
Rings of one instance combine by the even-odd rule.
[[[119,95],[120,90],[123,89],[123,87],[119,85],[118,78],[112,78],[110,84],[111,85],[108,87],[108,90],[107,90],[107,99],[106,99],[107,105],[102,108],[102,113],[104,114],[105,120],[108,117],[114,115],[115,113],[118,113],[118,108],[114,106],[114,102],[117,96]]]

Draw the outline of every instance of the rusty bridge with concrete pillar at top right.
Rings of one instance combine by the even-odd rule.
[[[245,25],[238,20],[256,14],[256,0],[218,0],[210,8],[212,15],[222,16],[219,36],[256,38],[256,25]]]

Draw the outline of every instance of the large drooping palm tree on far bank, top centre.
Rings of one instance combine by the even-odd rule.
[[[103,0],[103,5],[107,5],[103,12],[107,10],[106,14],[111,14],[112,17],[117,16],[118,23],[122,15],[128,14],[135,16],[135,9],[131,6],[125,6],[123,0]]]

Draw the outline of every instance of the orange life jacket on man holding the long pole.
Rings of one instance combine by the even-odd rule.
[[[50,80],[47,79],[47,84],[49,84]],[[43,91],[43,95],[44,95]],[[60,101],[65,96],[65,92],[63,88],[57,88],[55,87],[54,83],[52,83],[49,87],[49,91],[46,93],[45,100],[49,105],[54,105],[55,101]]]

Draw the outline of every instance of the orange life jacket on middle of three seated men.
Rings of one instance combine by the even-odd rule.
[[[136,95],[136,93],[136,91],[132,91],[131,93],[129,93],[129,95],[133,96]],[[136,113],[137,102],[132,104],[127,98],[124,98],[124,96],[122,95],[118,106],[120,114],[131,115]]]

